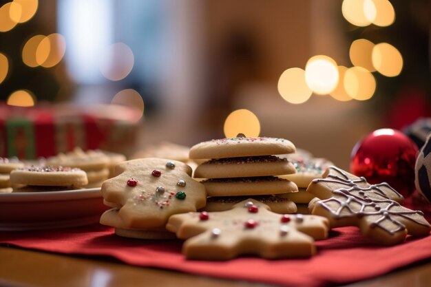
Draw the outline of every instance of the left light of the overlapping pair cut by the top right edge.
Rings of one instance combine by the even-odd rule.
[[[341,4],[341,12],[344,18],[359,27],[365,27],[371,24],[367,17],[372,17],[373,11],[370,0],[344,0]],[[375,17],[375,16],[374,16]]]

